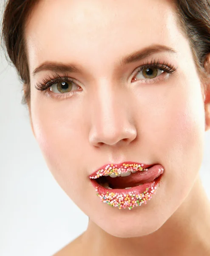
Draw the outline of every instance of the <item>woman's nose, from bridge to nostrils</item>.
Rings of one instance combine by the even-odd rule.
[[[104,87],[105,88],[105,87]],[[137,132],[131,119],[131,106],[119,91],[106,89],[95,92],[91,100],[91,130],[89,142],[94,146],[129,145]]]

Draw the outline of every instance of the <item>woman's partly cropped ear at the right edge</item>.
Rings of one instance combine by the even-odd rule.
[[[204,87],[206,88],[204,93],[204,109],[205,109],[205,131],[210,129],[210,53],[204,62],[204,69],[208,74],[208,78],[205,79]]]

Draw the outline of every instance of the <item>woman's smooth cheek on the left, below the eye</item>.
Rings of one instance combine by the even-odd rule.
[[[61,102],[36,100],[31,102],[31,118],[34,135],[43,153],[49,170],[60,186],[74,193],[75,184],[82,179],[86,155],[83,154],[87,133],[81,118],[82,108],[71,99]],[[84,167],[84,166],[83,166]],[[85,174],[86,175],[86,174]],[[83,179],[85,180],[85,179]]]

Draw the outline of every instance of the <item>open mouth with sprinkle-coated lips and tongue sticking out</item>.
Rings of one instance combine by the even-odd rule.
[[[152,198],[163,172],[160,164],[144,166],[129,162],[118,168],[108,165],[94,172],[90,179],[102,202],[119,209],[132,209]]]

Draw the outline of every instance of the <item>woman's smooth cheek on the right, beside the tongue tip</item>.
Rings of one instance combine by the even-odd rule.
[[[157,157],[166,168],[164,193],[176,195],[173,207],[179,206],[188,195],[199,173],[205,128],[199,82],[183,83],[178,87],[179,90],[167,100],[161,122],[154,127],[159,137],[153,137]],[[172,204],[170,199],[168,197],[169,205]]]

